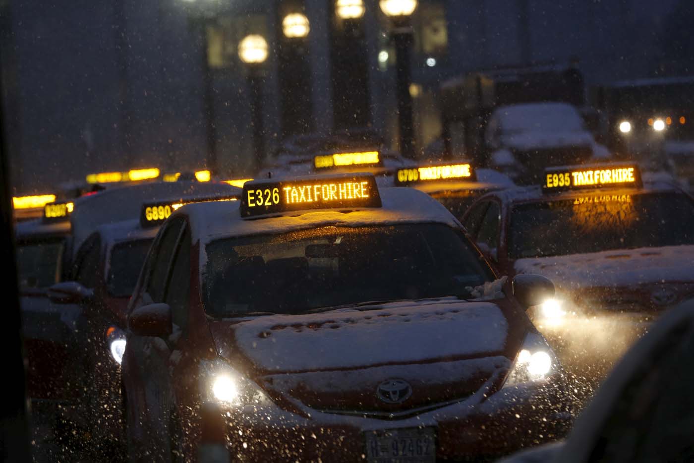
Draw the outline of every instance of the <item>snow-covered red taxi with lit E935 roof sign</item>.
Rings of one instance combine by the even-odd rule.
[[[638,165],[547,169],[542,185],[482,196],[463,224],[500,274],[556,283],[530,316],[589,382],[694,294],[694,200]]]

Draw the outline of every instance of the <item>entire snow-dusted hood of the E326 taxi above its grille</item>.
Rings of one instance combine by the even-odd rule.
[[[273,396],[335,413],[407,414],[482,400],[498,387],[526,329],[509,323],[502,309],[509,303],[498,302],[447,298],[277,315],[212,323],[212,334],[219,353],[232,364],[245,360]]]

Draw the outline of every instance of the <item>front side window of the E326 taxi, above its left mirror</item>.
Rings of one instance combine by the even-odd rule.
[[[188,306],[190,299],[190,230],[183,230],[178,242],[178,251],[171,267],[171,279],[167,285],[164,302],[171,308],[171,320],[183,332],[188,326]]]

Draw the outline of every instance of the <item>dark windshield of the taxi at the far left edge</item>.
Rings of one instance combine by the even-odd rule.
[[[58,283],[64,248],[65,240],[61,238],[17,243],[19,286],[46,288]]]

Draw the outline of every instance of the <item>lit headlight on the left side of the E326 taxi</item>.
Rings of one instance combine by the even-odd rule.
[[[203,362],[200,380],[203,401],[214,401],[224,407],[261,406],[270,403],[260,387],[223,360]]]

